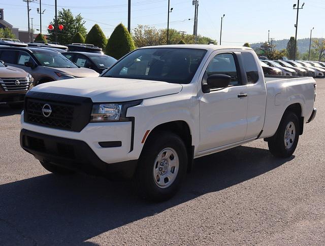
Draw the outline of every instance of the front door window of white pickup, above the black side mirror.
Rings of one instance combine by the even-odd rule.
[[[207,75],[224,74],[232,77],[231,85],[241,85],[238,79],[238,71],[234,55],[230,53],[218,54],[210,61],[207,67]]]

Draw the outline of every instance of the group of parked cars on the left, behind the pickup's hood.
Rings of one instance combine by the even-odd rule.
[[[99,77],[116,62],[93,45],[68,46],[0,40],[0,103],[7,102],[12,108],[19,108],[32,86],[56,80]]]

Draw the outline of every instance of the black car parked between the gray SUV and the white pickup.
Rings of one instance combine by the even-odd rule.
[[[62,55],[76,63],[77,66],[93,69],[100,74],[117,61],[111,56],[90,52],[63,52]]]

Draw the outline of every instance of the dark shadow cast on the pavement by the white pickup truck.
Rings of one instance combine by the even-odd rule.
[[[293,158],[276,159],[268,150],[237,147],[197,159],[179,193],[157,204],[139,199],[131,183],[82,174],[66,177],[46,174],[1,185],[0,244],[8,243],[6,231],[15,231],[24,238],[25,245],[27,241],[30,244],[92,244],[85,240],[252,179]],[[2,226],[7,229],[1,230]],[[15,238],[18,236],[11,238],[12,244],[21,243],[15,242]]]

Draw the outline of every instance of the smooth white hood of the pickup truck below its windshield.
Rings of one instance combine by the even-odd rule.
[[[176,94],[182,88],[160,81],[99,77],[53,81],[31,90],[90,97],[93,102],[121,102]]]

